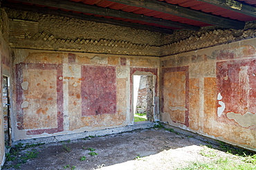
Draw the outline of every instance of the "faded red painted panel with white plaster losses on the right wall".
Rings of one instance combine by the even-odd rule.
[[[256,59],[217,62],[217,115],[220,121],[256,130],[255,67]]]

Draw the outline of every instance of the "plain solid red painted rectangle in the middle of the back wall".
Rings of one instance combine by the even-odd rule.
[[[116,113],[116,68],[82,66],[82,116]]]

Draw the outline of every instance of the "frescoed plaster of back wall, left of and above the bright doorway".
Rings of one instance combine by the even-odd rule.
[[[133,124],[131,74],[158,75],[157,57],[17,49],[15,58],[15,140]]]

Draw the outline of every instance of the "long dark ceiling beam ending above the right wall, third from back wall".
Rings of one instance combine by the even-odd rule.
[[[233,29],[243,29],[245,23],[243,21],[236,21],[232,19],[227,19],[224,17],[218,17],[210,15],[205,12],[199,12],[189,8],[184,8],[181,6],[176,6],[170,3],[165,3],[163,1],[156,0],[108,0],[116,3],[122,3],[127,6],[136,6],[140,8],[147,8],[149,10],[156,10],[159,12],[164,12],[170,15],[176,15],[179,17],[193,19],[196,21],[201,21],[203,23],[209,23],[214,26],[221,26],[224,28],[233,28]],[[209,0],[210,1],[210,0]]]

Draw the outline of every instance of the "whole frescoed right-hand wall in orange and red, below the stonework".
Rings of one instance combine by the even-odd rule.
[[[256,39],[161,59],[161,121],[256,151]]]

